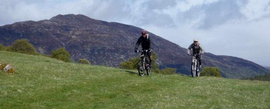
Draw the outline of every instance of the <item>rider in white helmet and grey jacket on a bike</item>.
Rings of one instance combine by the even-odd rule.
[[[199,59],[199,68],[202,68],[202,61],[203,59],[202,54],[204,54],[203,46],[199,43],[199,39],[195,38],[193,39],[193,43],[187,48],[187,55],[190,55],[190,50],[193,50],[193,54],[199,54],[197,55],[197,59]],[[194,59],[194,56],[192,56],[192,60]]]

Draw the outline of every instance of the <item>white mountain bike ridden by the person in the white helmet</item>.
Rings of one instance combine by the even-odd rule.
[[[198,66],[198,59],[196,56],[198,56],[200,54],[190,54],[190,56],[194,56],[194,59],[191,62],[191,76],[195,77],[195,75],[198,77],[200,76],[200,71],[201,69]]]

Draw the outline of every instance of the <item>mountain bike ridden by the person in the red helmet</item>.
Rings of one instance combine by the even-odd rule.
[[[138,71],[139,71],[140,76],[144,76],[145,70],[147,72],[147,75],[151,74],[151,67],[148,60],[147,51],[148,50],[143,50],[143,51],[139,50],[139,52],[141,52],[141,60],[139,61],[139,64],[138,64]],[[146,56],[144,54],[146,54]]]

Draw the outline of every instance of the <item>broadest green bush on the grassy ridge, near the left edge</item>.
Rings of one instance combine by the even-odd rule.
[[[18,52],[18,53],[23,53],[23,54],[39,55],[39,53],[36,52],[33,45],[30,44],[27,39],[16,40],[14,42],[14,44],[11,46],[8,46],[6,50],[9,52]]]

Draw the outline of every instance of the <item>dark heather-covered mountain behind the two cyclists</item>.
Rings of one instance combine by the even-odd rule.
[[[71,60],[87,59],[93,65],[119,67],[119,63],[138,56],[134,47],[141,28],[116,22],[91,19],[84,15],[57,15],[49,20],[15,22],[0,26],[0,43],[12,45],[17,39],[28,39],[41,54],[64,47]],[[160,68],[173,67],[190,75],[191,56],[186,48],[149,32]],[[219,67],[223,77],[241,78],[269,73],[258,64],[232,56],[205,53],[204,66]]]

